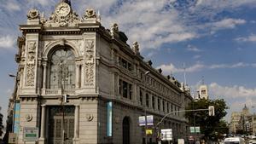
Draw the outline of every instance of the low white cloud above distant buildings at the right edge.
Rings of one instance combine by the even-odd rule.
[[[256,96],[256,88],[248,89],[244,86],[234,85],[231,87],[222,86],[217,83],[209,84],[209,89],[211,89],[212,95],[223,95],[225,98],[244,98]]]

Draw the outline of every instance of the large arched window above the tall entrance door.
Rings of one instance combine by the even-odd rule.
[[[56,49],[50,57],[50,89],[75,88],[75,55],[71,49]]]

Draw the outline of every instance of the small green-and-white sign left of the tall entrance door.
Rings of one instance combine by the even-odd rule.
[[[37,127],[24,127],[24,141],[38,141],[38,128]]]

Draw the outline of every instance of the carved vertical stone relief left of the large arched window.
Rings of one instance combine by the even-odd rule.
[[[34,86],[36,47],[36,42],[29,42],[27,45],[26,86],[28,87]]]

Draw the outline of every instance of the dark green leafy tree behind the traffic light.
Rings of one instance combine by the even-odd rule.
[[[209,140],[217,140],[221,135],[228,133],[228,125],[222,120],[227,114],[228,109],[223,99],[191,101],[186,110],[207,109],[209,106],[214,106],[215,116],[209,116],[208,111],[186,112],[185,117],[189,119],[189,125],[200,126],[201,134]]]

